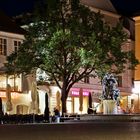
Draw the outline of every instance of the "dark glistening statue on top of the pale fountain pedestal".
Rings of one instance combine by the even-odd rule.
[[[103,87],[103,98],[108,100],[116,100],[117,104],[119,103],[117,98],[120,94],[119,89],[117,88],[117,80],[113,76],[113,74],[107,73],[102,79],[102,87]]]

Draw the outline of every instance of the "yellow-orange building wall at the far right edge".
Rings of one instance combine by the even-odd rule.
[[[134,18],[135,20],[135,55],[138,60],[140,60],[140,17]],[[135,79],[140,80],[140,65],[136,67]]]

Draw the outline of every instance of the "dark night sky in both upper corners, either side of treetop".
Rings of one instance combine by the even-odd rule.
[[[0,0],[0,10],[9,16],[31,11],[37,0]],[[111,0],[119,14],[133,16],[140,13],[140,0]],[[139,14],[140,15],[140,14]]]

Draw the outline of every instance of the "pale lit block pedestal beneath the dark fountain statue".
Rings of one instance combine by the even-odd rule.
[[[118,114],[116,101],[103,100],[103,114]]]

